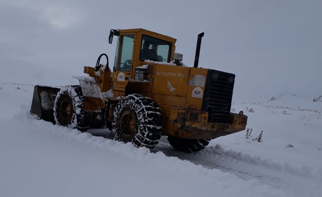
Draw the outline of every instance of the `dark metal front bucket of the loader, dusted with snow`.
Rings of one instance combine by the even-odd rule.
[[[30,113],[37,115],[41,120],[55,124],[54,102],[59,90],[59,88],[35,86]]]

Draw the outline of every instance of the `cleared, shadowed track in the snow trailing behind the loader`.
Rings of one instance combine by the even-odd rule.
[[[309,169],[296,169],[290,164],[274,163],[241,152],[227,151],[218,144],[208,146],[198,153],[186,154],[173,150],[163,137],[153,151],[162,151],[168,157],[177,157],[206,168],[220,169],[243,180],[256,179],[262,184],[293,191],[302,197],[311,197],[307,191],[318,191],[322,185],[321,177],[314,176],[314,172]]]

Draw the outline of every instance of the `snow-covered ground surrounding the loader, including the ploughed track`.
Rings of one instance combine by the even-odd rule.
[[[29,115],[34,85],[77,84],[75,74],[0,63],[0,197],[322,196],[322,101],[234,100],[232,110],[248,116],[248,139],[241,131],[185,154],[162,137],[150,152],[106,130],[82,133]],[[260,131],[262,141],[252,140]]]

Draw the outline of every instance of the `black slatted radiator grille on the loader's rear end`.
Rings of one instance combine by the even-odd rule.
[[[208,121],[226,123],[229,121],[235,75],[212,70],[208,82]]]

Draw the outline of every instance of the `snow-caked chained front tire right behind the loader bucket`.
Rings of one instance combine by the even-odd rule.
[[[54,118],[57,125],[86,131],[84,123],[84,102],[79,85],[65,86],[60,89],[54,104]]]

